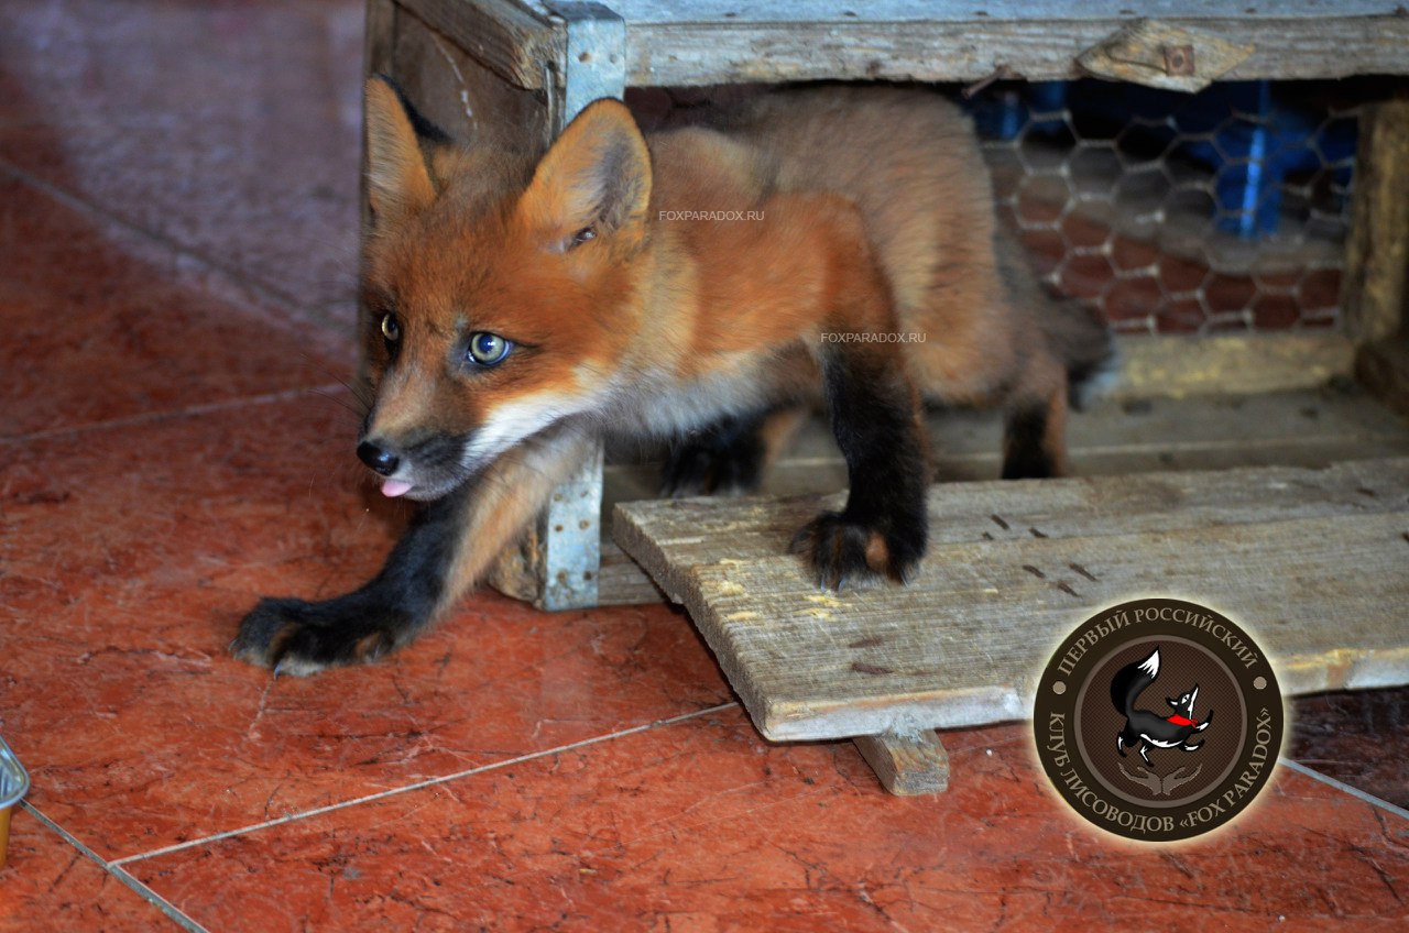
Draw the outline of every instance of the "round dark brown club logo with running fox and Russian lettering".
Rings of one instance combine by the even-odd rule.
[[[1117,836],[1192,839],[1241,813],[1272,777],[1282,695],[1227,617],[1137,599],[1085,622],[1037,685],[1037,757],[1076,813]]]

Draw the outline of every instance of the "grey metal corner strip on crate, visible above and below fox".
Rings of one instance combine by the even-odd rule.
[[[626,21],[600,3],[547,3],[566,25],[562,86],[548,92],[552,123],[561,132],[600,97],[626,93]],[[541,609],[597,605],[602,567],[602,444],[576,476],[554,490],[540,517]]]

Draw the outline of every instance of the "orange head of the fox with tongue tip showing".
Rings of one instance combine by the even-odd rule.
[[[435,499],[620,385],[638,314],[651,163],[630,111],[588,106],[541,158],[457,147],[366,83],[358,457]]]

